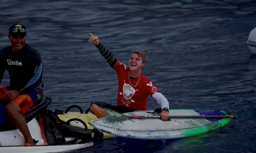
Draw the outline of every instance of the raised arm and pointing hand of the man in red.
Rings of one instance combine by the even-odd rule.
[[[92,33],[89,34],[91,35],[89,42],[94,42],[95,46],[99,49],[100,54],[107,60],[111,67],[114,67],[117,63],[117,59],[112,54],[112,52],[99,42],[99,38],[97,36],[94,36]]]

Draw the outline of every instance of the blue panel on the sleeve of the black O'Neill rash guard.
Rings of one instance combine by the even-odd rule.
[[[29,82],[26,84],[26,86],[19,91],[19,93],[21,91],[23,91],[24,89],[28,88],[29,86],[34,85],[36,82],[38,82],[40,80],[41,80],[41,82],[37,86],[37,88],[42,87],[42,83],[43,83],[42,72],[43,72],[43,60],[42,60],[41,64],[37,67],[35,75],[29,80]]]

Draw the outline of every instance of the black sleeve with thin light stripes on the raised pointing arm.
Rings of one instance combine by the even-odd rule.
[[[100,54],[107,60],[108,64],[113,67],[117,63],[117,59],[112,54],[112,52],[104,46],[102,43],[99,43],[98,45],[95,45],[98,49]]]

